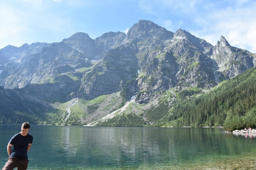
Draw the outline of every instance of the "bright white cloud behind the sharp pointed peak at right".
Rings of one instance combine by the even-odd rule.
[[[214,11],[206,16],[208,21],[204,23],[205,26],[202,25],[204,27],[202,33],[212,32],[213,36],[218,34],[216,37],[218,40],[220,35],[223,35],[230,45],[255,53],[256,13],[254,9],[256,9],[256,3],[250,4],[250,7],[234,6]]]

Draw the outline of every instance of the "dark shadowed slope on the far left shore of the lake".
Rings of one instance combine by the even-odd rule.
[[[20,124],[30,121],[32,124],[44,124],[45,111],[54,110],[46,102],[27,95],[22,90],[0,87],[0,123]]]

